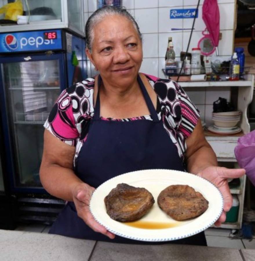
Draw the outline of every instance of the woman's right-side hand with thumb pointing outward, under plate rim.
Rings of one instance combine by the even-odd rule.
[[[227,179],[238,178],[245,174],[245,169],[229,169],[224,167],[207,167],[200,171],[197,175],[209,180],[214,184],[223,196],[224,206],[223,212],[219,219],[215,222],[215,226],[220,226],[226,220],[226,212],[232,207],[232,196],[230,194]]]

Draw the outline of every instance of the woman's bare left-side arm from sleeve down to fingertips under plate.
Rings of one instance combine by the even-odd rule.
[[[113,239],[115,235],[96,222],[90,213],[90,198],[95,189],[82,182],[75,175],[73,171],[74,153],[74,147],[61,142],[48,130],[45,130],[40,167],[41,183],[51,195],[63,200],[73,201],[77,215],[90,228]]]

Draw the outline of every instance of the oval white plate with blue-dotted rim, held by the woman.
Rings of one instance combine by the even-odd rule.
[[[139,224],[162,224],[161,229],[144,229],[112,220],[106,213],[104,198],[119,183],[127,183],[150,191],[155,203],[147,215],[141,218]],[[208,209],[199,217],[186,221],[176,221],[166,215],[157,204],[159,193],[167,186],[180,184],[189,185],[209,201]],[[100,185],[90,200],[90,211],[95,220],[108,231],[134,240],[170,241],[195,235],[214,224],[223,210],[223,198],[220,191],[209,181],[196,175],[165,169],[134,171],[114,177]],[[167,228],[165,228],[167,226]]]

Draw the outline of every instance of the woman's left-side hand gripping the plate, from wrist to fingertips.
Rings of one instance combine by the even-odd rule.
[[[95,232],[102,233],[103,235],[114,239],[115,235],[109,232],[104,226],[96,222],[90,213],[90,198],[94,190],[94,188],[84,183],[79,184],[74,188],[73,201],[77,210],[77,214]]]

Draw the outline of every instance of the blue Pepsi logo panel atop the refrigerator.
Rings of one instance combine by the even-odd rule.
[[[54,39],[49,39],[47,35],[51,34],[52,31],[53,30],[0,34],[0,53],[61,50],[61,30],[54,30]]]

